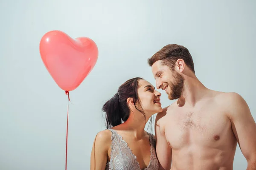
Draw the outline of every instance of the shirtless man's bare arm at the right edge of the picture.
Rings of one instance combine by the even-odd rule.
[[[232,129],[247,160],[247,170],[256,170],[256,123],[245,100],[236,93],[228,95]]]

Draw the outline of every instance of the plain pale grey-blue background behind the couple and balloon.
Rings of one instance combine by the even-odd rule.
[[[153,85],[147,58],[164,45],[189,49],[208,88],[244,97],[254,119],[255,0],[1,0],[0,169],[63,170],[67,96],[41,61],[48,31],[90,37],[99,48],[91,73],[70,98],[68,169],[90,167],[101,108],[127,79]],[[169,101],[163,92],[163,107]],[[234,170],[247,161],[237,147]]]

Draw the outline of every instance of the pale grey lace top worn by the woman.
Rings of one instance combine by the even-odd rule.
[[[131,152],[128,144],[122,140],[122,136],[116,133],[116,131],[113,129],[108,130],[111,130],[112,132],[112,150],[110,161],[106,164],[105,170],[140,170],[140,164],[137,161],[136,156]],[[148,133],[148,135],[151,144],[151,156],[148,167],[146,167],[144,170],[158,170],[158,160],[155,151],[155,138],[151,133]]]

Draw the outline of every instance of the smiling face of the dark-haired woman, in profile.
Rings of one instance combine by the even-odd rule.
[[[143,110],[147,116],[152,116],[155,113],[163,111],[160,102],[161,93],[156,91],[153,85],[141,79],[138,87],[138,96],[141,105],[136,105],[138,109]]]

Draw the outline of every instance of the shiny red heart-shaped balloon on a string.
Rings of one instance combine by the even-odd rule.
[[[96,43],[87,37],[75,40],[62,31],[49,31],[40,41],[45,67],[64,91],[76,89],[98,59]]]

